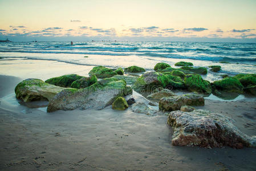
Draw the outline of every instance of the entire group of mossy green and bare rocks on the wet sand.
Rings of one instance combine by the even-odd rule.
[[[195,110],[192,106],[204,105],[202,94],[224,91],[256,95],[256,74],[224,76],[222,80],[210,83],[201,77],[207,74],[206,67],[192,67],[193,64],[188,62],[178,62],[175,66],[181,68],[157,63],[155,71],[145,72],[144,68],[137,66],[124,70],[97,66],[89,72],[89,77],[71,74],[45,82],[26,79],[17,85],[15,93],[18,99],[25,102],[48,100],[47,112],[76,108],[103,109],[112,105],[112,109],[125,110],[131,106],[133,112],[153,115],[158,111],[154,107],[158,106],[160,111],[170,112],[168,124],[174,131],[173,145],[255,147],[255,137],[239,132],[233,120],[217,113]],[[209,68],[213,72],[221,70],[220,66]],[[176,95],[171,89],[196,93]],[[133,90],[147,97],[146,101],[125,100],[124,96],[132,94]]]

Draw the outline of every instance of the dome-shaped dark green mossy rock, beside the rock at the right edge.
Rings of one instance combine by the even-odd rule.
[[[222,80],[213,82],[213,85],[222,91],[226,92],[238,92],[242,93],[243,85],[239,82],[237,78],[226,77]]]

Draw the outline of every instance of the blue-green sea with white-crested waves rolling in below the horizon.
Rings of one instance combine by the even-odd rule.
[[[36,59],[79,65],[128,67],[137,65],[153,70],[158,62],[174,67],[178,61],[192,62],[195,67],[220,65],[221,74],[256,73],[256,43],[207,42],[2,42],[0,60]],[[220,63],[221,62],[221,63]]]

